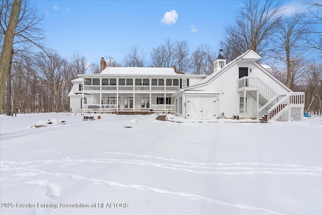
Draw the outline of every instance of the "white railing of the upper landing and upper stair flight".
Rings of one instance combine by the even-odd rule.
[[[237,91],[243,90],[258,90],[267,100],[271,100],[277,95],[277,93],[257,77],[244,76],[243,78],[238,79]]]

